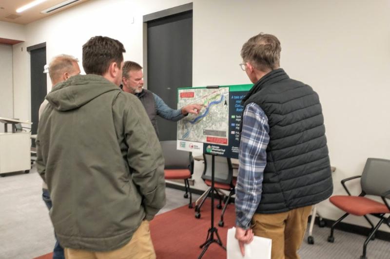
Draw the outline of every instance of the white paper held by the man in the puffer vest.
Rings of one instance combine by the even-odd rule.
[[[234,235],[235,227],[232,227],[228,230],[226,245],[228,259],[271,259],[271,239],[254,236],[253,241],[245,245],[245,257],[242,257],[238,240]]]

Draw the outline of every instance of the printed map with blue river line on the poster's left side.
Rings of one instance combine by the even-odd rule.
[[[229,144],[229,87],[178,90],[178,107],[202,104],[199,114],[177,123],[177,139]]]

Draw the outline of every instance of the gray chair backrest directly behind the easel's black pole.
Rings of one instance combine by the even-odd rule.
[[[212,155],[203,154],[204,169],[203,180],[211,180]],[[214,158],[214,181],[221,184],[231,184],[233,178],[233,166],[229,157],[215,155]]]

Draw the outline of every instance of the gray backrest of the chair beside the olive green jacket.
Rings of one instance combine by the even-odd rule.
[[[194,158],[191,152],[177,150],[176,140],[160,141],[165,158],[164,169],[189,169],[194,173]]]

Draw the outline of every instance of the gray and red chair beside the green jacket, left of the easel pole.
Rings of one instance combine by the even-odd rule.
[[[188,179],[194,173],[194,158],[191,152],[176,149],[176,140],[160,141],[162,154],[165,158],[164,176],[167,180],[183,179],[185,186],[184,198],[190,193],[189,208],[192,208],[192,193]]]

